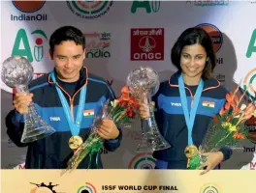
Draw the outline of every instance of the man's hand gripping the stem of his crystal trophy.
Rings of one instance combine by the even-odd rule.
[[[16,111],[20,114],[28,113],[28,105],[32,102],[33,94],[16,93],[14,98],[14,106]]]

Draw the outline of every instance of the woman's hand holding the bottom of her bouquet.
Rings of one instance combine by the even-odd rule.
[[[208,156],[208,159],[202,166],[197,168],[197,170],[202,170],[207,167],[200,175],[207,174],[209,170],[214,169],[224,158],[222,152],[205,152],[202,155]]]

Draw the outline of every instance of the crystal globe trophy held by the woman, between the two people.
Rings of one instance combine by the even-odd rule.
[[[127,77],[127,85],[133,95],[146,102],[149,109],[149,117],[142,119],[142,141],[137,152],[154,152],[170,148],[170,144],[159,132],[152,105],[152,96],[157,93],[160,85],[158,74],[149,67],[134,69]]]

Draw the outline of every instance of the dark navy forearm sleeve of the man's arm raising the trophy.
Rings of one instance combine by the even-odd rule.
[[[19,114],[15,109],[6,117],[7,134],[17,147],[25,147],[21,143],[21,136],[24,129],[24,115]]]

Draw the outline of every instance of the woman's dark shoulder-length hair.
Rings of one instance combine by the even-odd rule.
[[[206,67],[203,70],[202,78],[207,80],[208,78],[212,77],[213,69],[216,66],[216,56],[215,51],[213,49],[213,43],[208,35],[208,33],[199,27],[188,28],[178,37],[176,40],[175,45],[172,48],[171,59],[172,63],[176,66],[176,68],[181,71],[180,67],[180,55],[181,50],[186,45],[193,45],[193,44],[200,44],[202,45],[206,52],[208,60],[206,62]]]

